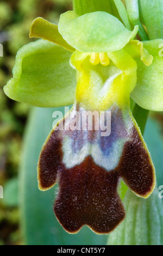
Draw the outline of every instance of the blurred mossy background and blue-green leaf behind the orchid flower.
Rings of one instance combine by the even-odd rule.
[[[32,108],[3,93],[3,86],[12,77],[16,52],[32,41],[28,36],[32,21],[41,16],[57,23],[59,15],[71,9],[71,0],[0,1],[0,43],[4,47],[4,57],[0,57],[0,185],[4,187],[0,245],[104,245],[107,240],[106,235],[95,235],[87,227],[77,235],[67,234],[52,211],[56,189],[40,192],[37,188],[37,159],[51,130],[54,109]],[[162,113],[151,113],[145,139],[158,185],[163,185],[162,127]]]

